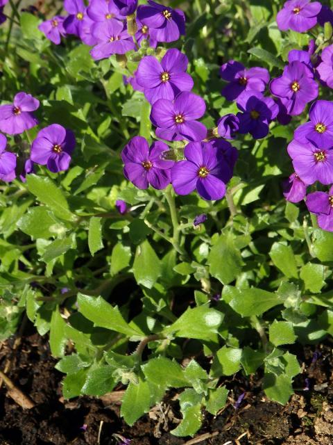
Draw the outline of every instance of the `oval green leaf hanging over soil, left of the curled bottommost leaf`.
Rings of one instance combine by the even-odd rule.
[[[120,414],[129,426],[149,411],[151,393],[147,382],[130,382],[121,403]]]

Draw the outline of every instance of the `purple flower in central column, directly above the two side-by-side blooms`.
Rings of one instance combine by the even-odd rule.
[[[151,109],[156,136],[166,140],[203,140],[207,129],[196,119],[206,111],[205,101],[191,92],[180,92],[175,101],[159,99]]]

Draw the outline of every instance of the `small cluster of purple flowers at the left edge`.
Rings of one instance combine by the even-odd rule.
[[[18,92],[12,104],[0,106],[0,131],[10,136],[22,134],[38,124],[34,112],[40,102],[26,92]],[[22,181],[26,175],[34,172],[34,163],[46,165],[53,172],[69,168],[71,153],[76,145],[74,133],[61,125],[52,124],[37,133],[31,145],[30,156],[22,159],[23,168],[19,168],[17,155],[7,149],[7,138],[0,133],[0,179],[13,181],[17,170]]]

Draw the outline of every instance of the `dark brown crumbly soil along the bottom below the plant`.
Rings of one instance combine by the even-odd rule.
[[[260,375],[249,380],[239,373],[223,382],[230,389],[230,398],[219,415],[207,414],[196,437],[180,439],[169,432],[181,417],[175,392],[135,426],[126,426],[119,415],[119,402],[114,401],[119,393],[65,401],[62,374],[54,369],[56,361],[47,338],[33,333],[18,339],[8,339],[0,349],[0,369],[15,385],[10,389],[8,382],[3,383],[0,389],[0,445],[113,445],[121,443],[121,437],[130,439],[130,445],[333,444],[329,342],[298,351],[303,372],[296,378],[296,394],[286,406],[266,399]],[[236,409],[237,398],[243,393]],[[23,409],[22,400],[34,407]]]

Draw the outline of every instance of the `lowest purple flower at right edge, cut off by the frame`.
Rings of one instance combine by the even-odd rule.
[[[317,215],[318,226],[327,232],[333,232],[333,187],[329,193],[310,193],[306,204],[309,211]]]

